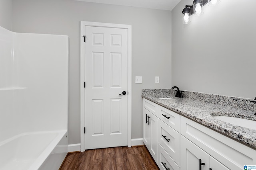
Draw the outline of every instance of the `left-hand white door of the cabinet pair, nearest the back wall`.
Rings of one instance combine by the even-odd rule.
[[[146,147],[149,149],[149,140],[150,140],[150,123],[148,123],[148,117],[150,117],[150,112],[143,108],[143,142],[146,145]]]

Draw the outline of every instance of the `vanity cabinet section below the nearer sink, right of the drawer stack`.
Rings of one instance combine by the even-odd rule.
[[[230,139],[184,116],[180,118],[181,169],[197,169],[202,160],[202,170],[241,170],[244,165],[254,165],[256,150]],[[207,156],[208,155],[208,156]],[[189,168],[190,169],[190,168]],[[219,170],[219,169],[218,169]]]

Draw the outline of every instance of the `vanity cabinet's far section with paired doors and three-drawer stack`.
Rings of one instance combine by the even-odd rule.
[[[143,99],[143,141],[160,169],[180,169],[179,131],[180,115]]]

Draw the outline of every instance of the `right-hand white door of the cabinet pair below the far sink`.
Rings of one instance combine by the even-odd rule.
[[[157,143],[158,143],[158,117],[154,114],[150,114],[149,127],[150,127],[150,143],[149,143],[149,152],[154,160],[157,162]]]

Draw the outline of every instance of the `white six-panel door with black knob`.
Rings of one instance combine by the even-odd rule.
[[[85,35],[85,149],[127,146],[128,30],[86,26]]]

